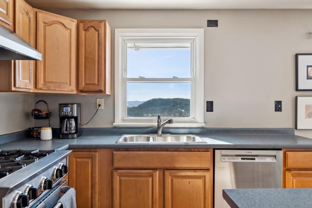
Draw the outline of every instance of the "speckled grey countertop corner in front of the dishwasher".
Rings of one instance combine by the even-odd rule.
[[[223,189],[231,208],[312,208],[312,189]]]

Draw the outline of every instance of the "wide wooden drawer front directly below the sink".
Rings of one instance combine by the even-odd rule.
[[[114,151],[114,168],[210,169],[210,151]]]

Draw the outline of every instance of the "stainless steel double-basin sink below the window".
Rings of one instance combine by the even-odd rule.
[[[199,136],[193,134],[124,134],[117,142],[118,144],[159,144],[159,143],[207,143]]]

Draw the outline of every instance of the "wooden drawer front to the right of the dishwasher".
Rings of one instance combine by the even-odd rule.
[[[311,169],[312,151],[286,151],[286,169]]]

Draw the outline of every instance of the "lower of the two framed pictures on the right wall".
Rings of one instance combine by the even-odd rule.
[[[312,97],[296,97],[296,129],[312,129]]]

